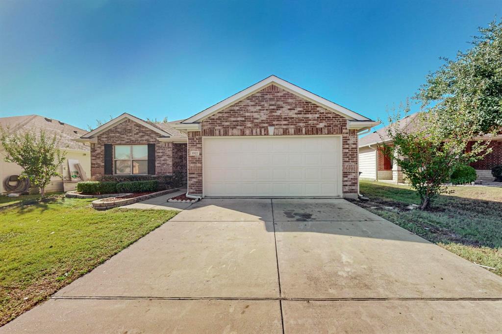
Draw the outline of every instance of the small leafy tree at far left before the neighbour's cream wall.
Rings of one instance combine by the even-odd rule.
[[[0,142],[7,152],[5,160],[19,164],[24,171],[19,176],[28,178],[40,188],[40,195],[45,196],[45,187],[55,176],[61,177],[57,169],[63,163],[66,152],[59,148],[61,138],[54,135],[48,138],[45,131],[34,134],[9,132],[0,127]]]

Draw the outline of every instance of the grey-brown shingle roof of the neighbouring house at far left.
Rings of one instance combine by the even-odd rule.
[[[73,138],[81,136],[87,131],[57,119],[51,119],[40,115],[1,117],[0,124],[2,124],[9,133],[40,133],[40,130],[44,130],[46,134],[51,137],[54,135],[61,135],[61,140],[59,141],[61,148],[82,151],[90,150],[89,146],[73,140]]]

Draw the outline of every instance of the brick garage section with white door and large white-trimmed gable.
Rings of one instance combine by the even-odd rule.
[[[175,127],[190,195],[356,198],[357,133],[378,124],[270,76]]]

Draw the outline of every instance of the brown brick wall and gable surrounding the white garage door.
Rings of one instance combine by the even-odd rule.
[[[339,135],[343,196],[357,197],[358,130],[349,129],[348,119],[339,113],[293,94],[279,85],[264,87],[206,117],[199,124],[200,130],[188,131],[190,194],[200,196],[204,193],[203,137]],[[273,133],[269,132],[269,127],[274,127]],[[198,155],[191,155],[190,151],[196,151]]]

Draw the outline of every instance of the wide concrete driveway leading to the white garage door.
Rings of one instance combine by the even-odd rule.
[[[502,332],[502,278],[345,200],[204,199],[0,332]]]

